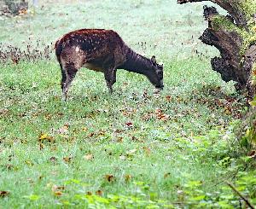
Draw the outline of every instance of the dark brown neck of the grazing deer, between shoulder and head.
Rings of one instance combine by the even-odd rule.
[[[148,75],[152,69],[152,62],[143,55],[138,55],[135,51],[128,48],[126,52],[126,61],[118,68],[134,73]]]

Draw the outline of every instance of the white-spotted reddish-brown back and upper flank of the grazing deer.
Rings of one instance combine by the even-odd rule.
[[[55,43],[55,53],[58,60],[80,59],[80,62],[86,63],[122,54],[124,46],[122,38],[112,30],[81,29],[60,38]]]

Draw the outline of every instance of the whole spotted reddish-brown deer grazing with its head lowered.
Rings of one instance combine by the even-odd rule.
[[[55,43],[55,54],[61,66],[62,99],[80,67],[104,73],[108,90],[116,82],[116,70],[125,69],[145,75],[158,90],[162,90],[163,66],[138,55],[117,32],[103,29],[81,29],[69,32]]]

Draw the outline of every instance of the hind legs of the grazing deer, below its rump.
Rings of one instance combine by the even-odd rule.
[[[62,101],[67,100],[67,91],[75,78],[78,69],[74,66],[73,63],[66,64],[64,67],[61,65],[61,89],[62,89]]]

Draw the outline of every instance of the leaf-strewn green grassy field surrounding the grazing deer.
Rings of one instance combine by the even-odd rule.
[[[3,18],[0,41],[24,48],[28,38],[49,44],[76,28],[113,28],[133,49],[165,63],[166,87],[154,95],[146,78],[120,70],[109,96],[103,75],[83,69],[61,102],[55,60],[2,63],[0,190],[9,194],[0,208],[195,206],[201,194],[218,194],[232,181],[224,160],[232,111],[241,109],[233,85],[205,57],[217,52],[196,39],[204,28],[201,6],[41,6]]]

